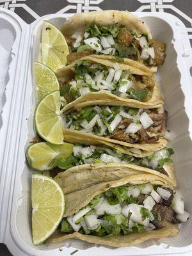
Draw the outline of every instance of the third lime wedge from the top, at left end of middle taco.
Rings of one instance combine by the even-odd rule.
[[[35,111],[36,131],[45,141],[52,144],[63,144],[60,106],[60,92],[56,91],[45,96]]]

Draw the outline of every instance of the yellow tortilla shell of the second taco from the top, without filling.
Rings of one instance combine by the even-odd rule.
[[[154,88],[152,92],[152,97],[146,101],[141,102],[135,99],[127,99],[116,96],[111,92],[88,92],[81,97],[77,98],[76,100],[68,103],[63,109],[62,112],[65,111],[72,111],[74,109],[85,108],[91,105],[111,105],[111,106],[129,106],[132,108],[159,108],[163,105],[163,99],[161,96],[161,92],[157,85],[156,78],[152,70],[145,65],[139,63],[138,61],[133,61],[129,59],[125,59],[124,62],[120,62],[116,60],[114,56],[98,56],[98,55],[91,55],[83,57],[77,61],[89,61],[91,63],[97,63],[101,65],[105,65],[106,67],[114,68],[114,63],[118,63],[120,69],[129,70],[132,75],[139,75],[139,76],[148,76],[154,81]],[[56,71],[56,76],[60,83],[65,83],[66,81],[71,81],[71,79],[76,75],[74,71],[74,66],[76,65],[77,61],[74,61],[67,67],[60,68]],[[115,61],[115,62],[114,62]]]

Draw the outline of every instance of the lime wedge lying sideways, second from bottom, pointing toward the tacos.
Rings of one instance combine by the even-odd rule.
[[[67,158],[73,152],[73,144],[53,145],[48,142],[35,143],[28,147],[27,159],[29,166],[38,171],[51,170],[54,167],[54,159]]]

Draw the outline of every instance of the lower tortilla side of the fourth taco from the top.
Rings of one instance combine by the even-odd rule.
[[[84,189],[86,186],[93,186],[98,184],[100,180],[102,180],[102,182],[108,182],[111,180],[122,179],[127,177],[127,175],[138,174],[154,174],[175,187],[177,182],[175,180],[173,164],[165,164],[164,170],[166,170],[168,176],[161,172],[157,172],[156,170],[145,168],[136,164],[82,164],[69,168],[65,172],[58,173],[54,179],[58,182],[58,184],[60,184],[61,188],[63,188],[63,193],[65,194],[72,193],[79,189]]]

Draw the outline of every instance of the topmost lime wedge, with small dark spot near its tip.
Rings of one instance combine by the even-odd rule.
[[[61,31],[44,20],[42,26],[42,63],[57,70],[66,65],[68,45]]]

